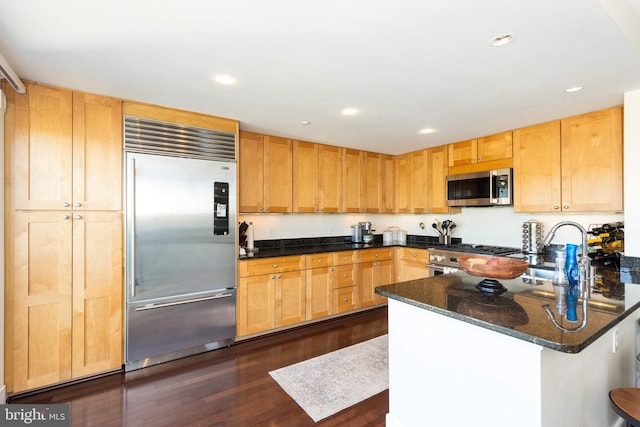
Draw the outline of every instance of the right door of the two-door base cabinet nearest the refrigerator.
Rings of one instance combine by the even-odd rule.
[[[305,272],[290,271],[277,275],[276,326],[286,326],[306,320]]]

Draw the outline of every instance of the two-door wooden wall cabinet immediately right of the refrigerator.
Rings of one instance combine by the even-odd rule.
[[[286,138],[240,132],[240,212],[292,211],[293,151]]]

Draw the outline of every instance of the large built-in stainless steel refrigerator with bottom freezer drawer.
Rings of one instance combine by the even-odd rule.
[[[185,149],[183,134],[148,122],[125,117],[126,370],[231,345],[236,333],[235,134],[222,135],[223,156],[219,136],[205,141],[212,156],[201,130],[186,128]]]

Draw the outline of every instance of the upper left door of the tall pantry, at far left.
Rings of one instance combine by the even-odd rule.
[[[13,207],[71,210],[71,91],[26,86],[15,96]]]

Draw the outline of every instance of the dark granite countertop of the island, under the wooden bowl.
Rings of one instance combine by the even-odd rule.
[[[614,273],[615,275],[616,273]],[[556,328],[543,305],[551,306],[558,323],[574,328],[582,321],[582,301],[578,305],[578,322],[567,322],[555,309],[556,298],[550,283],[532,285],[522,278],[501,280],[507,292],[493,297],[476,289],[480,277],[457,272],[426,279],[412,280],[376,288],[376,293],[452,317],[485,329],[490,329],[524,341],[565,353],[578,353],[640,307],[637,292],[625,298],[624,287],[638,286],[619,283],[619,273],[608,292],[594,293],[589,300],[587,326],[580,332],[564,332]]]

